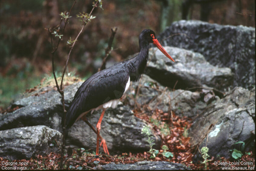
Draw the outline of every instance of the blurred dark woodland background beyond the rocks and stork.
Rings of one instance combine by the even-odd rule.
[[[79,12],[90,12],[92,0],[78,1],[72,18],[55,53],[56,70],[61,73],[66,62],[71,37],[80,31]],[[167,17],[163,16],[169,2]],[[207,1],[210,13],[207,21],[217,24],[255,27],[255,2],[251,0]],[[68,11],[71,0],[1,0],[0,1],[0,107],[5,108],[19,93],[38,85],[52,75],[50,36],[44,28],[55,27],[61,12]],[[117,34],[111,52],[112,63],[125,60],[139,51],[138,35],[149,28],[158,35],[165,26],[181,20],[180,0],[109,0],[103,1],[103,11],[97,8],[78,39],[67,73],[86,79],[97,72],[107,47],[111,27]],[[200,20],[202,5],[189,9],[189,19]],[[163,25],[163,23],[165,25]]]

